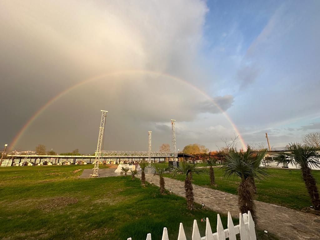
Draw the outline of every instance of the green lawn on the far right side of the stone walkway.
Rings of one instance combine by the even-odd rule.
[[[256,200],[297,210],[302,210],[312,205],[307,188],[301,179],[300,170],[270,168],[268,172],[270,177],[261,181],[256,180]],[[227,178],[219,168],[214,168],[214,173],[217,186],[210,186],[209,175],[206,174],[194,175],[193,183],[237,194],[239,178]],[[320,183],[320,171],[312,171],[312,174],[316,181]],[[171,177],[170,174],[166,174],[166,176]],[[180,180],[184,179],[180,177]]]

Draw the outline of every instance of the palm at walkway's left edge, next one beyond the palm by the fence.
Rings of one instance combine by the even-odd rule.
[[[172,171],[172,175],[184,175],[184,188],[186,189],[186,198],[188,209],[193,210],[195,208],[194,198],[193,198],[193,187],[191,183],[191,175],[200,173],[207,173],[206,168],[199,167],[199,164],[189,164],[189,163],[180,163],[179,167],[175,167]]]

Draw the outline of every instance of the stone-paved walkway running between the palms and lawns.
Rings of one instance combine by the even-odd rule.
[[[159,186],[159,178],[146,174],[148,182]],[[171,178],[164,178],[165,188],[179,196],[185,197],[184,182]],[[193,185],[195,201],[206,207],[227,215],[239,217],[238,196],[221,192],[212,188]],[[311,213],[297,212],[295,210],[274,204],[255,201],[257,206],[257,227],[266,229],[280,239],[320,239],[320,216]]]

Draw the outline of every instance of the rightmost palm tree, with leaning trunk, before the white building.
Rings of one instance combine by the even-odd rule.
[[[311,174],[312,167],[320,167],[320,148],[291,143],[284,153],[274,158],[278,164],[295,164],[300,166],[302,179],[308,189],[311,202],[316,210],[320,210],[319,192],[316,180]]]

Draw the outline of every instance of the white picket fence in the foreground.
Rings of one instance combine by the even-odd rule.
[[[193,230],[192,230],[192,240],[236,240],[236,235],[240,234],[241,240],[257,240],[256,233],[254,230],[254,222],[250,211],[247,213],[239,213],[239,225],[234,226],[231,218],[230,212],[228,212],[228,228],[223,229],[220,215],[218,214],[217,220],[217,232],[212,233],[209,219],[206,218],[206,229],[205,236],[201,237],[199,233],[199,228],[197,221],[193,221]],[[132,240],[129,237],[127,240]],[[148,233],[147,239],[151,240],[151,234]],[[163,228],[162,240],[169,240],[167,228]],[[187,240],[184,233],[183,225],[180,223],[178,240]]]

